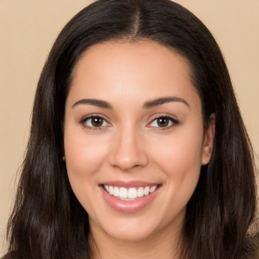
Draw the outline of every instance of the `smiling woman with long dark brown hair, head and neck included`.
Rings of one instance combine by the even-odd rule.
[[[42,70],[4,258],[257,258],[255,194],[207,28],[167,0],[97,1]]]

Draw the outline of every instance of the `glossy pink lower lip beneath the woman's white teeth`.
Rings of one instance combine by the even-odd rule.
[[[106,190],[104,190],[103,186],[100,186],[102,193],[104,195],[105,201],[113,209],[124,213],[134,213],[145,208],[155,198],[159,187],[160,186],[158,186],[154,192],[150,193],[147,196],[144,195],[143,197],[139,197],[136,200],[126,201],[126,200],[117,199],[113,195],[110,195]]]

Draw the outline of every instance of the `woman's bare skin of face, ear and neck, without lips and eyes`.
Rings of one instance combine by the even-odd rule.
[[[187,104],[143,107],[172,96]],[[103,100],[112,108],[77,103],[82,99]],[[91,115],[102,116],[103,124],[83,121]],[[159,127],[157,116],[179,123]],[[201,101],[183,57],[148,41],[89,48],[75,67],[67,97],[64,146],[71,187],[89,214],[94,257],[178,258],[186,205],[212,143],[213,125],[203,132]],[[115,180],[160,188],[145,208],[124,213],[105,202],[99,186]]]

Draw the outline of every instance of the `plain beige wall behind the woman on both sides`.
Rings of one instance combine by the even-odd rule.
[[[37,79],[55,37],[92,1],[0,0],[0,256]],[[217,38],[259,154],[259,0],[179,0]],[[258,157],[256,158],[258,163]]]

